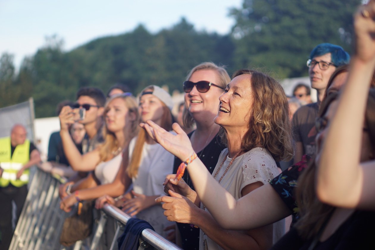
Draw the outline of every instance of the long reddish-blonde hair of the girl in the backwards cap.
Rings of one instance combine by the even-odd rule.
[[[166,131],[169,131],[172,129],[172,114],[165,103],[162,100],[160,101],[163,106],[163,116],[161,118],[162,124],[160,125],[160,127],[165,129]],[[126,172],[130,178],[136,177],[138,175],[139,163],[141,162],[142,156],[142,148],[147,138],[148,134],[145,132],[145,130],[140,129],[135,141],[132,159],[130,160],[129,166],[126,168]]]

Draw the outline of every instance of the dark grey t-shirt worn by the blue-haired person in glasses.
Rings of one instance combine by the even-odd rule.
[[[315,155],[315,119],[318,117],[319,105],[311,103],[297,109],[293,115],[293,136],[296,142],[302,142],[304,154]]]

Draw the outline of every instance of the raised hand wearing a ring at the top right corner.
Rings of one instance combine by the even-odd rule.
[[[375,0],[361,5],[354,14],[356,57],[364,63],[375,60]]]

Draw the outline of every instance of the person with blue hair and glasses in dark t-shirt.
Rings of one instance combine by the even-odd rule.
[[[328,81],[336,68],[349,63],[350,56],[338,45],[321,43],[310,53],[307,61],[311,87],[317,90],[317,99],[299,108],[293,115],[293,132],[296,142],[294,163],[302,160],[304,154],[315,155],[315,119],[318,117],[320,103]]]

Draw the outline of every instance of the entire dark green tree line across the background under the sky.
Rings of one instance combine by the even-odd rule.
[[[67,52],[63,39],[51,36],[18,71],[12,54],[1,55],[0,107],[32,96],[39,118],[54,116],[57,103],[74,100],[84,86],[105,93],[115,83],[135,94],[150,84],[181,91],[187,72],[203,61],[224,65],[229,74],[255,67],[277,79],[306,76],[306,60],[317,44],[330,42],[350,52],[352,15],[359,2],[244,0],[242,7],[229,10],[235,24],[225,35],[197,31],[181,18],[155,34],[139,25]]]

